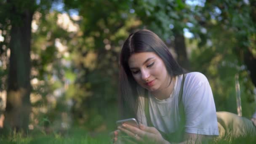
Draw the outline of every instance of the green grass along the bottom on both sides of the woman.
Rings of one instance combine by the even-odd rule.
[[[224,139],[211,139],[209,144],[256,144],[255,135],[246,135],[238,138],[226,136]],[[81,128],[72,129],[65,134],[43,132],[10,133],[0,137],[0,144],[112,144],[109,132],[88,133]]]

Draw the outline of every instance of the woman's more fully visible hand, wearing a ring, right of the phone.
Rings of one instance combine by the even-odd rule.
[[[123,124],[122,126],[118,126],[118,129],[124,133],[126,133],[128,136],[131,136],[136,141],[140,142],[153,142],[153,143],[167,143],[168,141],[165,141],[163,139],[161,133],[157,131],[154,127],[147,127],[145,125],[139,125],[139,128],[136,128],[132,125]]]

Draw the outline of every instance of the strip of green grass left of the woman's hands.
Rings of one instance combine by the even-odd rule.
[[[9,134],[0,138],[0,144],[111,144],[108,132],[88,133],[83,129],[73,129],[64,135],[43,132]]]

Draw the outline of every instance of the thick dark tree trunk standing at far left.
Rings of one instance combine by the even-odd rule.
[[[13,131],[27,132],[30,104],[30,39],[33,11],[20,11],[13,3],[11,8],[10,63],[8,71],[5,127]],[[28,5],[31,6],[31,5]],[[20,19],[19,24],[15,18]]]

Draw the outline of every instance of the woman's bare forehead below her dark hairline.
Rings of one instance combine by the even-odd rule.
[[[130,67],[143,65],[149,58],[160,59],[154,52],[133,53],[128,59]]]

